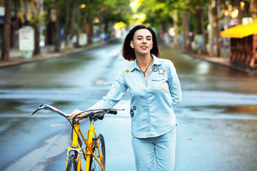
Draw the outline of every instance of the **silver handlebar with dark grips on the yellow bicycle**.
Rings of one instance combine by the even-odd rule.
[[[46,104],[45,105],[40,105],[39,108],[37,108],[33,113],[31,113],[31,115],[34,115],[35,113],[37,113],[41,109],[51,110],[54,113],[58,113],[59,115],[64,116],[65,118],[69,118],[69,115],[70,115],[70,114],[64,113],[63,111],[59,110],[58,108],[55,108],[54,106],[46,105]],[[106,108],[106,109],[97,109],[97,110],[84,110],[81,113],[79,113],[79,115],[76,115],[76,117],[74,119],[95,117],[99,120],[102,120],[104,118],[104,114],[109,113],[109,114],[116,115],[117,110],[124,110],[124,109]],[[86,115],[81,115],[82,113],[86,113],[86,112],[90,112],[90,113],[87,113]]]

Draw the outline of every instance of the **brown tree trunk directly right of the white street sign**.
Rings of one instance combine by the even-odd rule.
[[[41,15],[41,1],[38,1],[36,3],[36,24],[34,26],[35,30],[35,49],[34,49],[34,55],[38,55],[40,53],[40,15]]]

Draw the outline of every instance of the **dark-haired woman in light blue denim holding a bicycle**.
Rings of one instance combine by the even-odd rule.
[[[112,108],[126,90],[131,93],[131,133],[136,169],[173,170],[176,117],[173,105],[181,102],[181,86],[171,61],[158,58],[154,31],[143,25],[127,34],[122,56],[134,61],[116,76],[109,93],[90,109]],[[80,113],[74,110],[71,118]]]

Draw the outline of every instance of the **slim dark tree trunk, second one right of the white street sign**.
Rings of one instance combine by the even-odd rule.
[[[56,7],[56,42],[54,46],[54,51],[60,51],[60,2],[55,0]]]

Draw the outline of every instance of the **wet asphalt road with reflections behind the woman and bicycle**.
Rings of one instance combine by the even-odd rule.
[[[161,46],[176,66],[183,102],[178,120],[176,171],[257,170],[257,76],[192,58]],[[130,62],[121,43],[37,63],[0,68],[0,170],[64,170],[71,128],[61,116],[41,111],[51,104],[70,113],[85,110],[108,92]],[[96,131],[106,140],[106,170],[135,170],[129,93]],[[160,123],[161,126],[161,123]],[[83,130],[88,128],[81,122]]]

